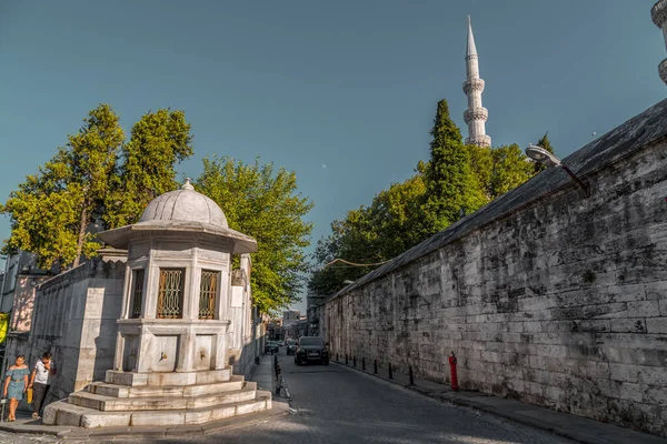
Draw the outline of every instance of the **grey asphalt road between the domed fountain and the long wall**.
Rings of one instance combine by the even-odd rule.
[[[281,351],[280,362],[293,414],[211,435],[160,440],[88,440],[96,443],[457,443],[567,444],[571,441],[466,408],[338,365],[297,366]],[[31,443],[31,437],[21,437]],[[37,438],[32,438],[37,440]],[[2,443],[10,441],[2,441]],[[11,441],[12,443],[18,441]],[[73,443],[72,440],[63,441]],[[81,441],[76,441],[81,442]]]

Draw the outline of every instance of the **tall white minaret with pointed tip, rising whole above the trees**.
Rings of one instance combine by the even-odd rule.
[[[464,82],[464,92],[468,95],[468,109],[464,112],[464,120],[468,124],[468,139],[466,144],[479,147],[490,147],[491,138],[486,135],[485,122],[489,112],[481,105],[481,91],[484,91],[484,80],[479,78],[479,62],[477,60],[477,48],[475,48],[475,37],[472,37],[472,26],[470,16],[468,16],[468,48],[466,49],[466,73],[467,79]]]

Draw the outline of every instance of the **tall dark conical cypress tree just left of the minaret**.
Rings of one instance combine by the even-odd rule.
[[[461,133],[449,118],[447,100],[438,102],[431,130],[430,161],[426,169],[424,218],[426,232],[435,234],[486,203],[475,180],[469,152]]]

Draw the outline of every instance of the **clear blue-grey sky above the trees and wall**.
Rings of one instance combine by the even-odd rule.
[[[436,103],[461,127],[466,16],[494,145],[545,131],[565,157],[665,98],[654,0],[2,2],[0,199],[100,102],[129,132],[186,111],[196,154],[297,172],[313,244],[428,158]],[[326,165],[326,168],[323,167]],[[0,219],[0,239],[9,236]],[[305,303],[297,309],[303,309]]]

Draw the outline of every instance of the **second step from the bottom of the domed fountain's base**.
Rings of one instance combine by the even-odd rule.
[[[69,395],[68,403],[81,407],[94,408],[102,412],[122,411],[165,411],[209,407],[211,405],[230,404],[253,400],[256,390],[243,387],[219,393],[208,393],[198,396],[146,396],[146,397],[112,397],[90,392],[76,392]]]

